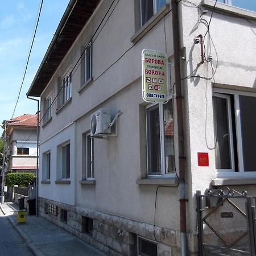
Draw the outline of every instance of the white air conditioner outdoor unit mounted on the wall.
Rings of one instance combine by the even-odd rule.
[[[99,109],[90,117],[90,135],[111,134],[111,116],[109,110]]]

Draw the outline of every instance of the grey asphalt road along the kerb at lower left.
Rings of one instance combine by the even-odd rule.
[[[22,224],[21,224],[22,225]],[[0,256],[32,256],[26,243],[0,210]]]

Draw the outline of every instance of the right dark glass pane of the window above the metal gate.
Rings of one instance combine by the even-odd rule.
[[[244,171],[256,171],[256,98],[240,96],[240,118]]]

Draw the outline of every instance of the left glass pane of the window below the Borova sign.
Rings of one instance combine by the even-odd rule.
[[[162,174],[160,154],[159,105],[155,105],[147,109],[147,150],[148,174]]]

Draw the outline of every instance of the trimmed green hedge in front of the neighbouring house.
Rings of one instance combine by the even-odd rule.
[[[35,182],[35,177],[34,174],[10,173],[6,175],[7,186],[18,185],[19,187],[27,187],[28,183]]]

